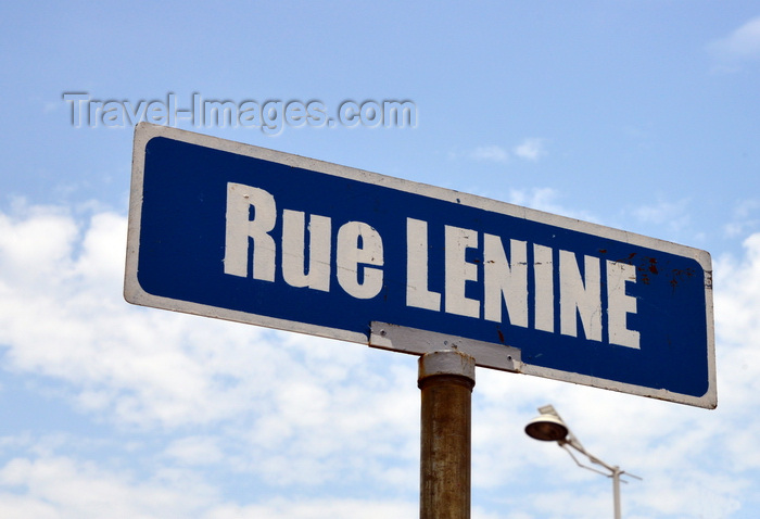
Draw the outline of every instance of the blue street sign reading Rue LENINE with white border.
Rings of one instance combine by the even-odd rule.
[[[707,252],[140,124],[130,303],[713,408]]]

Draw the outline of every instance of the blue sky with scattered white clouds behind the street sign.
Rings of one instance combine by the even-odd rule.
[[[757,2],[15,2],[1,18],[0,517],[418,515],[414,356],[124,301],[132,119],[169,96],[315,102],[335,124],[174,123],[710,252],[718,408],[478,368],[472,517],[611,516],[608,478],[524,434],[545,404],[643,478],[623,517],[756,517]],[[384,101],[414,124],[339,119]]]

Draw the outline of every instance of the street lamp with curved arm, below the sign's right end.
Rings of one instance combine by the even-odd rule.
[[[634,476],[630,472],[625,472],[624,470],[620,470],[620,467],[618,467],[617,465],[607,465],[596,456],[588,454],[588,452],[586,452],[583,445],[581,445],[581,442],[579,442],[578,439],[573,435],[573,433],[570,431],[570,428],[562,421],[562,419],[559,417],[559,414],[557,414],[553,406],[545,405],[543,407],[539,407],[539,413],[541,413],[541,416],[533,418],[525,426],[525,434],[535,440],[541,440],[543,442],[557,442],[557,444],[560,447],[565,448],[568,452],[570,457],[573,459],[573,461],[575,461],[575,464],[579,467],[593,470],[594,472],[600,473],[601,476],[606,476],[607,478],[612,478],[612,493],[615,496],[615,519],[620,519],[620,477],[622,474],[626,474],[639,481],[642,478],[639,478],[638,476]],[[578,460],[575,455],[572,454],[572,451],[570,451],[568,446],[571,446],[579,453],[586,456],[592,464],[604,467],[609,471],[609,473],[583,465]],[[623,480],[623,483],[628,483],[628,481]]]

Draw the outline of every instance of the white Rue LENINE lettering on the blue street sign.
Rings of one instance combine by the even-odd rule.
[[[281,236],[274,235],[278,217]],[[638,349],[639,334],[628,328],[628,315],[636,313],[636,299],[626,294],[626,283],[636,282],[635,267],[601,261],[539,243],[509,240],[473,229],[444,225],[444,254],[429,257],[429,223],[406,218],[406,305],[431,312],[529,327],[529,302],[533,302],[532,327],[546,332],[578,337],[578,317],[588,340]],[[308,240],[306,238],[308,231]],[[335,242],[335,257],[332,242]],[[278,248],[280,254],[277,254]],[[482,253],[479,266],[467,261],[467,251]],[[532,249],[533,262],[528,254]],[[380,233],[370,224],[347,221],[333,229],[325,215],[306,214],[277,206],[275,197],[256,187],[229,182],[225,235],[225,274],[275,282],[279,267],[291,287],[330,292],[332,271],[340,289],[359,299],[372,299],[383,288],[385,256]],[[280,257],[280,265],[277,265]],[[558,262],[555,261],[558,258]],[[430,290],[432,262],[443,262],[442,292]],[[249,271],[249,265],[251,271]],[[604,278],[603,278],[604,267]],[[529,268],[532,276],[529,277]],[[555,276],[558,269],[558,276]],[[529,279],[533,282],[529,283]],[[555,287],[555,279],[558,286]],[[440,281],[440,280],[436,280]],[[482,300],[468,298],[467,287],[482,283]],[[607,330],[603,330],[603,286],[607,290]],[[529,292],[534,298],[529,299]],[[555,329],[555,302],[559,302],[559,329]],[[506,307],[506,315],[503,312]]]

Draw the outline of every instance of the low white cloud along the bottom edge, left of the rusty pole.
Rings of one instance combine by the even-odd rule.
[[[194,478],[134,476],[69,457],[18,457],[0,467],[0,517],[14,519],[387,519],[414,517],[416,503],[268,498],[226,503]]]

